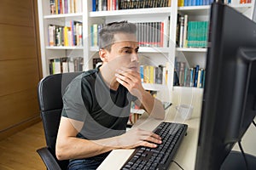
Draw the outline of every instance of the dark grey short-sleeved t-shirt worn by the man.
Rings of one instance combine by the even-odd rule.
[[[117,90],[108,88],[96,68],[85,71],[68,85],[62,116],[83,122],[81,138],[109,138],[125,133],[131,101],[136,99],[121,84]]]

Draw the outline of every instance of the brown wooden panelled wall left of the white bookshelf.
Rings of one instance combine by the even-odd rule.
[[[42,77],[36,0],[1,0],[0,139],[38,122]]]

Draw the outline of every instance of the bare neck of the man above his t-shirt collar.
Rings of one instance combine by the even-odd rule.
[[[108,65],[102,65],[99,68],[103,81],[107,84],[107,86],[113,90],[117,90],[119,88],[119,82],[116,81],[115,71],[108,68]]]

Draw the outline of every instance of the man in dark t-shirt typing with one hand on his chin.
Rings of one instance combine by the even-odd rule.
[[[102,66],[76,77],[63,96],[56,156],[69,169],[96,169],[113,149],[157,147],[160,136],[142,129],[125,133],[131,101],[164,119],[160,101],[142,86],[136,26],[114,22],[100,32]]]

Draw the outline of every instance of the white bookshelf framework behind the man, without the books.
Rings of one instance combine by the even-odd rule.
[[[84,71],[92,68],[92,59],[98,56],[98,47],[90,45],[90,26],[92,24],[108,23],[112,21],[128,20],[137,22],[163,21],[170,18],[168,30],[165,31],[166,41],[169,43],[164,48],[139,48],[139,55],[142,64],[154,63],[154,65],[170,64],[170,74],[168,75],[167,85],[144,84],[143,87],[148,90],[161,90],[169,88],[166,95],[172,95],[177,88],[172,88],[174,58],[182,55],[183,59],[189,62],[189,65],[199,64],[201,67],[206,66],[207,48],[176,48],[176,29],[177,13],[188,14],[189,20],[209,20],[210,6],[190,6],[177,7],[177,1],[172,1],[171,7],[166,8],[139,8],[113,11],[92,12],[91,0],[82,1],[83,11],[76,14],[49,14],[49,0],[38,0],[38,19],[41,41],[42,68],[44,77],[49,75],[49,59],[54,56],[83,56]],[[247,4],[230,4],[247,17],[252,18],[252,3]],[[78,20],[83,23],[83,46],[79,47],[50,47],[48,45],[48,26],[49,24],[65,25],[69,20]]]

